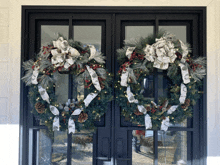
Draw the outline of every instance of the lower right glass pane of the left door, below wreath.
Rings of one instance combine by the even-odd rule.
[[[72,135],[72,165],[92,165],[93,134],[86,132]]]

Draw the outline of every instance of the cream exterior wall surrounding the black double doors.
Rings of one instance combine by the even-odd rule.
[[[208,165],[220,162],[220,0],[0,0],[0,164],[19,158],[22,5],[207,7]]]

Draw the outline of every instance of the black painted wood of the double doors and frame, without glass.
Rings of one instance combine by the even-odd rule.
[[[91,7],[91,6],[23,6],[22,7],[22,51],[21,62],[35,56],[40,47],[39,26],[41,24],[69,24],[69,38],[73,37],[73,24],[102,25],[102,52],[106,54],[106,67],[110,72],[116,73],[116,49],[123,46],[124,26],[153,22],[154,33],[162,24],[176,25],[187,24],[187,41],[193,46],[193,54],[203,56],[206,54],[206,8],[204,7]],[[41,23],[40,23],[41,22]],[[38,30],[37,30],[38,29]],[[22,64],[22,63],[21,63]],[[155,73],[157,74],[157,73]],[[24,72],[21,68],[21,77]],[[158,79],[155,77],[155,84]],[[206,92],[206,80],[204,80]],[[70,87],[71,88],[71,87]],[[156,85],[155,85],[155,89]],[[72,91],[72,90],[70,90]],[[31,105],[27,99],[28,87],[21,82],[21,113],[20,113],[20,165],[27,165],[32,159],[36,164],[36,133],[33,139],[29,138],[29,131],[45,129],[45,126],[33,122],[30,113]],[[155,96],[158,92],[155,90]],[[170,131],[187,131],[188,163],[206,164],[207,131],[206,131],[206,95],[197,104],[193,121],[188,122],[187,128],[171,127]],[[101,165],[103,160],[98,157],[107,157],[114,164],[132,164],[132,130],[144,130],[129,122],[124,122],[120,117],[120,108],[113,101],[109,104],[109,111],[102,118],[99,128],[94,134],[93,164]],[[32,131],[33,132],[33,131]],[[154,131],[155,165],[158,163],[157,140],[158,131]],[[29,139],[33,147],[29,146]],[[107,145],[109,143],[109,145]],[[118,147],[118,145],[122,147]],[[108,147],[104,147],[107,145]],[[31,149],[32,151],[30,151]],[[121,152],[122,151],[122,152]],[[33,153],[30,155],[29,153]],[[68,163],[71,160],[71,137],[68,140]]]

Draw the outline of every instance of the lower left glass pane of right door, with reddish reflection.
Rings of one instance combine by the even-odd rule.
[[[133,130],[132,165],[153,165],[153,146],[153,131]]]

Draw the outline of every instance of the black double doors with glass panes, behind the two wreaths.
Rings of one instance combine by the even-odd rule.
[[[45,43],[64,37],[93,44],[106,56],[106,68],[117,74],[116,50],[123,41],[146,37],[160,30],[174,33],[192,46],[192,54],[205,53],[204,8],[94,8],[94,7],[23,7],[22,60],[34,58]],[[155,101],[166,94],[166,73],[158,70],[146,77]],[[68,99],[72,85],[68,75],[61,75],[58,99]],[[112,86],[114,88],[114,86]],[[204,88],[205,89],[205,88]],[[95,133],[82,131],[74,135],[56,132],[51,139],[44,123],[30,112],[22,85],[21,96],[21,164],[76,165],[160,165],[205,163],[205,97],[195,106],[192,119],[173,125],[164,133],[144,130],[121,116],[120,107],[112,101],[108,111],[96,123]],[[77,88],[75,88],[77,90]],[[60,97],[59,97],[60,96]],[[81,97],[81,96],[74,96]],[[81,142],[80,142],[81,140]],[[25,143],[28,141],[28,143]]]

